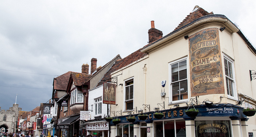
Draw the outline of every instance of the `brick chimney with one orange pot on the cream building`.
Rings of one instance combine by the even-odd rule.
[[[151,29],[148,29],[148,43],[152,43],[161,37],[163,37],[163,32],[155,29],[155,23],[154,21],[151,21]]]

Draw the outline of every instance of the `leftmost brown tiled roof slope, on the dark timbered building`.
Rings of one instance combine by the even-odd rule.
[[[70,78],[71,72],[67,72],[65,74],[60,75],[59,77],[54,78],[54,87],[55,90],[67,90],[68,81]],[[57,94],[54,95],[54,98],[58,98]]]

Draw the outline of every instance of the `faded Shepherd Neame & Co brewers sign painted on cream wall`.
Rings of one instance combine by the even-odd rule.
[[[191,96],[224,94],[218,28],[189,37]]]

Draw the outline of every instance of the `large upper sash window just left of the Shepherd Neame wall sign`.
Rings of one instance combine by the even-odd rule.
[[[188,80],[187,80],[187,59],[183,58],[170,63],[170,97],[172,102],[188,100]]]

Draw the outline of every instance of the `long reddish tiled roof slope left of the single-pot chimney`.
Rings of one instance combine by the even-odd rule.
[[[104,75],[104,77],[102,78],[102,80],[107,80],[109,78],[111,78],[111,73],[118,70],[118,69],[121,69],[141,58],[143,58],[144,56],[148,55],[147,53],[143,53],[140,51],[141,49],[139,49],[138,51],[135,51],[133,52],[132,54],[128,55],[127,57],[125,57],[124,59],[121,59],[121,60],[117,60],[113,65],[112,67],[108,70],[108,72]],[[103,84],[104,81],[100,81],[98,83],[97,86],[100,86]],[[97,87],[96,86],[96,87]]]

